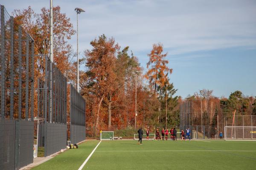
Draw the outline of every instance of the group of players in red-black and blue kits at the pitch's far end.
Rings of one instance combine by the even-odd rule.
[[[185,132],[186,132],[186,136],[185,136]],[[189,138],[189,141],[190,141],[191,131],[188,128],[186,129],[185,132],[184,130],[181,130],[181,140],[186,141],[186,138]],[[171,134],[171,140],[177,141],[177,130],[175,129],[175,127],[172,127],[172,129],[170,130],[170,134]],[[146,131],[146,135],[147,135],[146,140],[149,140],[149,128]],[[157,128],[155,135],[156,135],[155,140],[160,140],[160,139],[164,140],[164,136],[165,136],[165,140],[167,140],[169,135],[169,130],[168,129],[164,130],[163,128],[163,130],[161,131],[162,138],[160,138],[160,132],[159,132],[159,129]]]

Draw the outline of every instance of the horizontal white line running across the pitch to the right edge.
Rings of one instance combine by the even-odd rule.
[[[256,150],[98,150],[95,152],[256,152]]]

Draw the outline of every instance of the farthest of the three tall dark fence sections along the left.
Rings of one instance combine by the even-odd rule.
[[[70,84],[70,141],[73,144],[85,140],[85,100]]]

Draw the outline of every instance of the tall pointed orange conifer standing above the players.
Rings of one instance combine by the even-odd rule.
[[[148,54],[149,61],[147,63],[148,72],[146,73],[146,78],[149,80],[149,84],[154,88],[154,93],[157,91],[157,86],[164,86],[168,79],[168,74],[172,74],[172,69],[170,69],[167,64],[169,61],[164,60],[167,53],[162,54],[163,44],[153,44],[153,49],[150,54]]]

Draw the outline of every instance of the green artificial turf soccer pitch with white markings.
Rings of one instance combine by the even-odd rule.
[[[86,141],[33,170],[78,170],[99,141]],[[256,170],[256,141],[102,141],[83,170]]]

